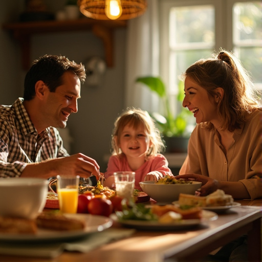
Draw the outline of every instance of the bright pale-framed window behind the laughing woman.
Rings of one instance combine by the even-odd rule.
[[[178,75],[190,64],[224,48],[233,50],[262,91],[262,4],[242,0],[161,0],[160,75],[174,114]]]

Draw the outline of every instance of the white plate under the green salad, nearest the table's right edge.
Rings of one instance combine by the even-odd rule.
[[[202,219],[187,219],[181,221],[174,221],[170,224],[160,224],[157,221],[144,220],[118,220],[118,217],[113,214],[111,217],[114,221],[122,224],[125,227],[131,227],[142,230],[179,230],[187,227],[197,226],[204,222],[217,219],[217,214],[211,211],[203,210]]]

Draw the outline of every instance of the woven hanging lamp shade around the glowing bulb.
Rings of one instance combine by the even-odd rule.
[[[105,0],[78,0],[80,12],[90,18],[110,20],[105,15]],[[128,20],[142,15],[147,7],[146,0],[121,0],[122,15],[116,20]]]

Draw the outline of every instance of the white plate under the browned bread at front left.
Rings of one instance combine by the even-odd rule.
[[[61,239],[78,238],[90,233],[103,231],[110,228],[113,224],[112,219],[106,216],[91,215],[91,214],[65,214],[74,219],[81,219],[85,221],[85,228],[83,230],[74,231],[56,231],[38,228],[37,233],[33,234],[10,234],[0,233],[1,241],[51,241]]]

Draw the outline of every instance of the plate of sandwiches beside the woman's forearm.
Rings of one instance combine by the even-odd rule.
[[[179,200],[173,202],[173,204],[181,207],[200,207],[214,212],[223,212],[230,208],[241,206],[240,203],[234,202],[230,194],[225,194],[221,189],[217,189],[206,197],[181,193]]]

